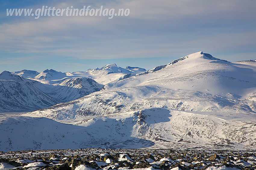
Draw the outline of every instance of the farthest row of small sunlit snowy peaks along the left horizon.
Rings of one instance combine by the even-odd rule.
[[[118,81],[130,76],[134,76],[138,73],[145,72],[144,68],[140,67],[130,67],[127,66],[126,69],[118,67],[116,64],[107,64],[103,67],[88,69],[87,71],[77,71],[77,72],[58,72],[53,69],[46,69],[41,73],[32,70],[21,70],[12,72],[15,75],[22,76],[24,78],[33,79],[44,84],[59,85],[65,79],[75,79],[75,78],[91,78],[96,82],[105,85],[112,81]]]

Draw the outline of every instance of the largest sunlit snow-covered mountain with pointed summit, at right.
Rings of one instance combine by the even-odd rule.
[[[56,115],[67,112],[102,116],[148,107],[255,114],[255,101],[251,100],[256,91],[255,72],[255,63],[212,60],[203,52],[197,52],[158,71],[110,82],[103,91],[56,105],[39,115],[39,111],[28,115],[51,115],[59,120]],[[62,109],[64,111],[57,111]]]

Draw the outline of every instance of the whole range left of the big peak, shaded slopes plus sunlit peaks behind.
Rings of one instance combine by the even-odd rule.
[[[73,73],[53,69],[41,73],[33,70],[4,71],[0,74],[0,112],[29,111],[72,101],[101,90],[104,86],[102,82],[119,80],[127,74],[131,76],[143,71],[146,70],[130,66],[124,69],[116,64]]]

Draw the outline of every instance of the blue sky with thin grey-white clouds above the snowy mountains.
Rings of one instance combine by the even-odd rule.
[[[129,9],[128,16],[7,16],[42,6]],[[0,4],[0,72],[86,71],[116,63],[151,69],[203,51],[256,59],[256,1],[8,1]]]

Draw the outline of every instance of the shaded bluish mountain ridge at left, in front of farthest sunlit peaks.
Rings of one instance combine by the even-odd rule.
[[[78,99],[101,90],[90,78],[66,79],[60,85],[46,85],[14,75],[0,74],[0,112],[28,111]]]

